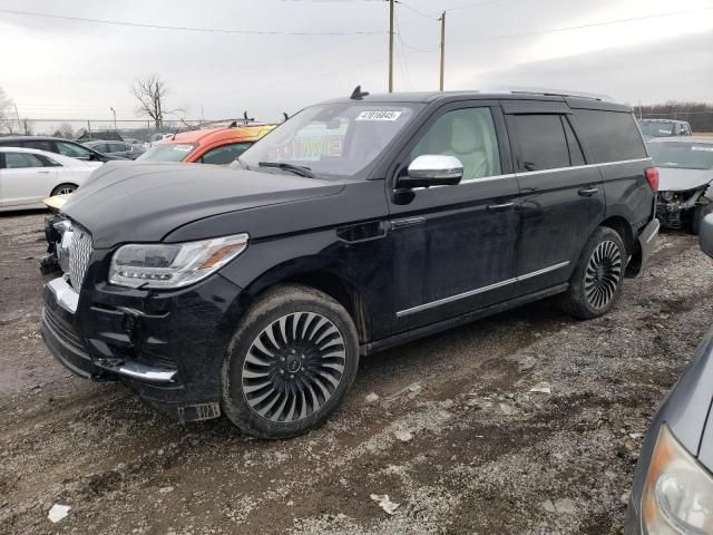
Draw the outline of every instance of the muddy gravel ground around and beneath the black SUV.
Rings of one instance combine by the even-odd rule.
[[[638,434],[713,309],[713,261],[665,234],[608,317],[543,302],[365,358],[325,426],[263,441],[180,426],[50,358],[42,217],[0,216],[3,534],[619,533]],[[541,381],[551,395],[528,393]],[[58,524],[53,503],[71,506]]]

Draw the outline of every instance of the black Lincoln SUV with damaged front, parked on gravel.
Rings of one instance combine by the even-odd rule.
[[[656,183],[625,106],[355,91],[235,168],[98,169],[53,224],[42,334],[182,421],[294,436],[360,354],[556,294],[609,311],[657,235]]]

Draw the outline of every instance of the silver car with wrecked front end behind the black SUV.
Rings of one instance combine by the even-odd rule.
[[[656,215],[662,225],[686,226],[697,234],[701,221],[713,211],[713,137],[662,137],[647,147],[661,175]]]

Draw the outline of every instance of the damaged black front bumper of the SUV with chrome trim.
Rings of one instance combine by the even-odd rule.
[[[174,418],[219,416],[241,289],[221,275],[170,293],[91,286],[45,285],[41,332],[52,356],[80,377],[126,383]]]

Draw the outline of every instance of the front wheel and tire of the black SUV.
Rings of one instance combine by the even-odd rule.
[[[275,286],[231,340],[223,410],[250,435],[295,437],[341,405],[358,368],[359,337],[340,303],[309,286]]]

